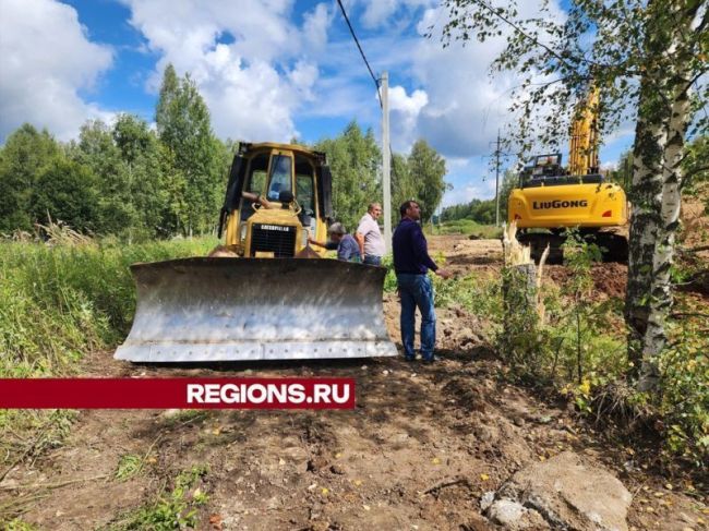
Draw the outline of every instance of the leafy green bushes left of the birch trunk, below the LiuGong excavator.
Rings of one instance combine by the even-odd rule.
[[[568,280],[561,289],[545,286],[542,290],[543,325],[531,301],[531,287],[525,283],[527,277],[515,269],[503,273],[509,300],[497,345],[514,378],[553,385],[587,410],[593,390],[627,370],[622,307],[618,300],[591,298],[591,267],[601,257],[596,244],[572,231],[564,257]]]

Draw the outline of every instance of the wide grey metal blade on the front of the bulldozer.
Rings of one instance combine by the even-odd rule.
[[[322,258],[182,258],[131,266],[133,362],[396,355],[384,325],[386,269]]]

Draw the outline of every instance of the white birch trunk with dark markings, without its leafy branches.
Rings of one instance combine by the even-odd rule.
[[[633,218],[626,293],[628,358],[639,363],[638,389],[656,390],[659,358],[666,346],[665,324],[672,307],[670,273],[682,205],[684,138],[690,120],[692,73],[676,53],[692,33],[697,11],[678,3],[669,39],[649,38],[651,53],[670,58],[646,72],[638,102],[634,145]],[[664,48],[663,48],[664,46]],[[637,367],[637,365],[636,365]]]

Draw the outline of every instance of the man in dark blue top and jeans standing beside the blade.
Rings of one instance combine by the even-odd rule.
[[[433,307],[433,285],[426,274],[429,269],[442,278],[450,273],[441,269],[429,256],[428,244],[419,219],[421,208],[416,201],[407,201],[399,208],[401,221],[394,231],[394,270],[401,297],[401,342],[404,358],[414,360],[413,333],[416,309],[421,312],[421,357],[432,363],[435,346],[435,310]]]

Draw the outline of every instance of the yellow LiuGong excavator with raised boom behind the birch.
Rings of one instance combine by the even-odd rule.
[[[599,171],[598,107],[599,90],[591,88],[572,124],[567,168],[562,166],[560,153],[538,155],[522,169],[519,186],[509,194],[507,220],[517,224],[517,238],[530,245],[537,261],[546,245],[550,262],[563,260],[568,228],[578,228],[582,237],[598,244],[603,260],[627,261],[623,234],[627,198],[621,185]]]

